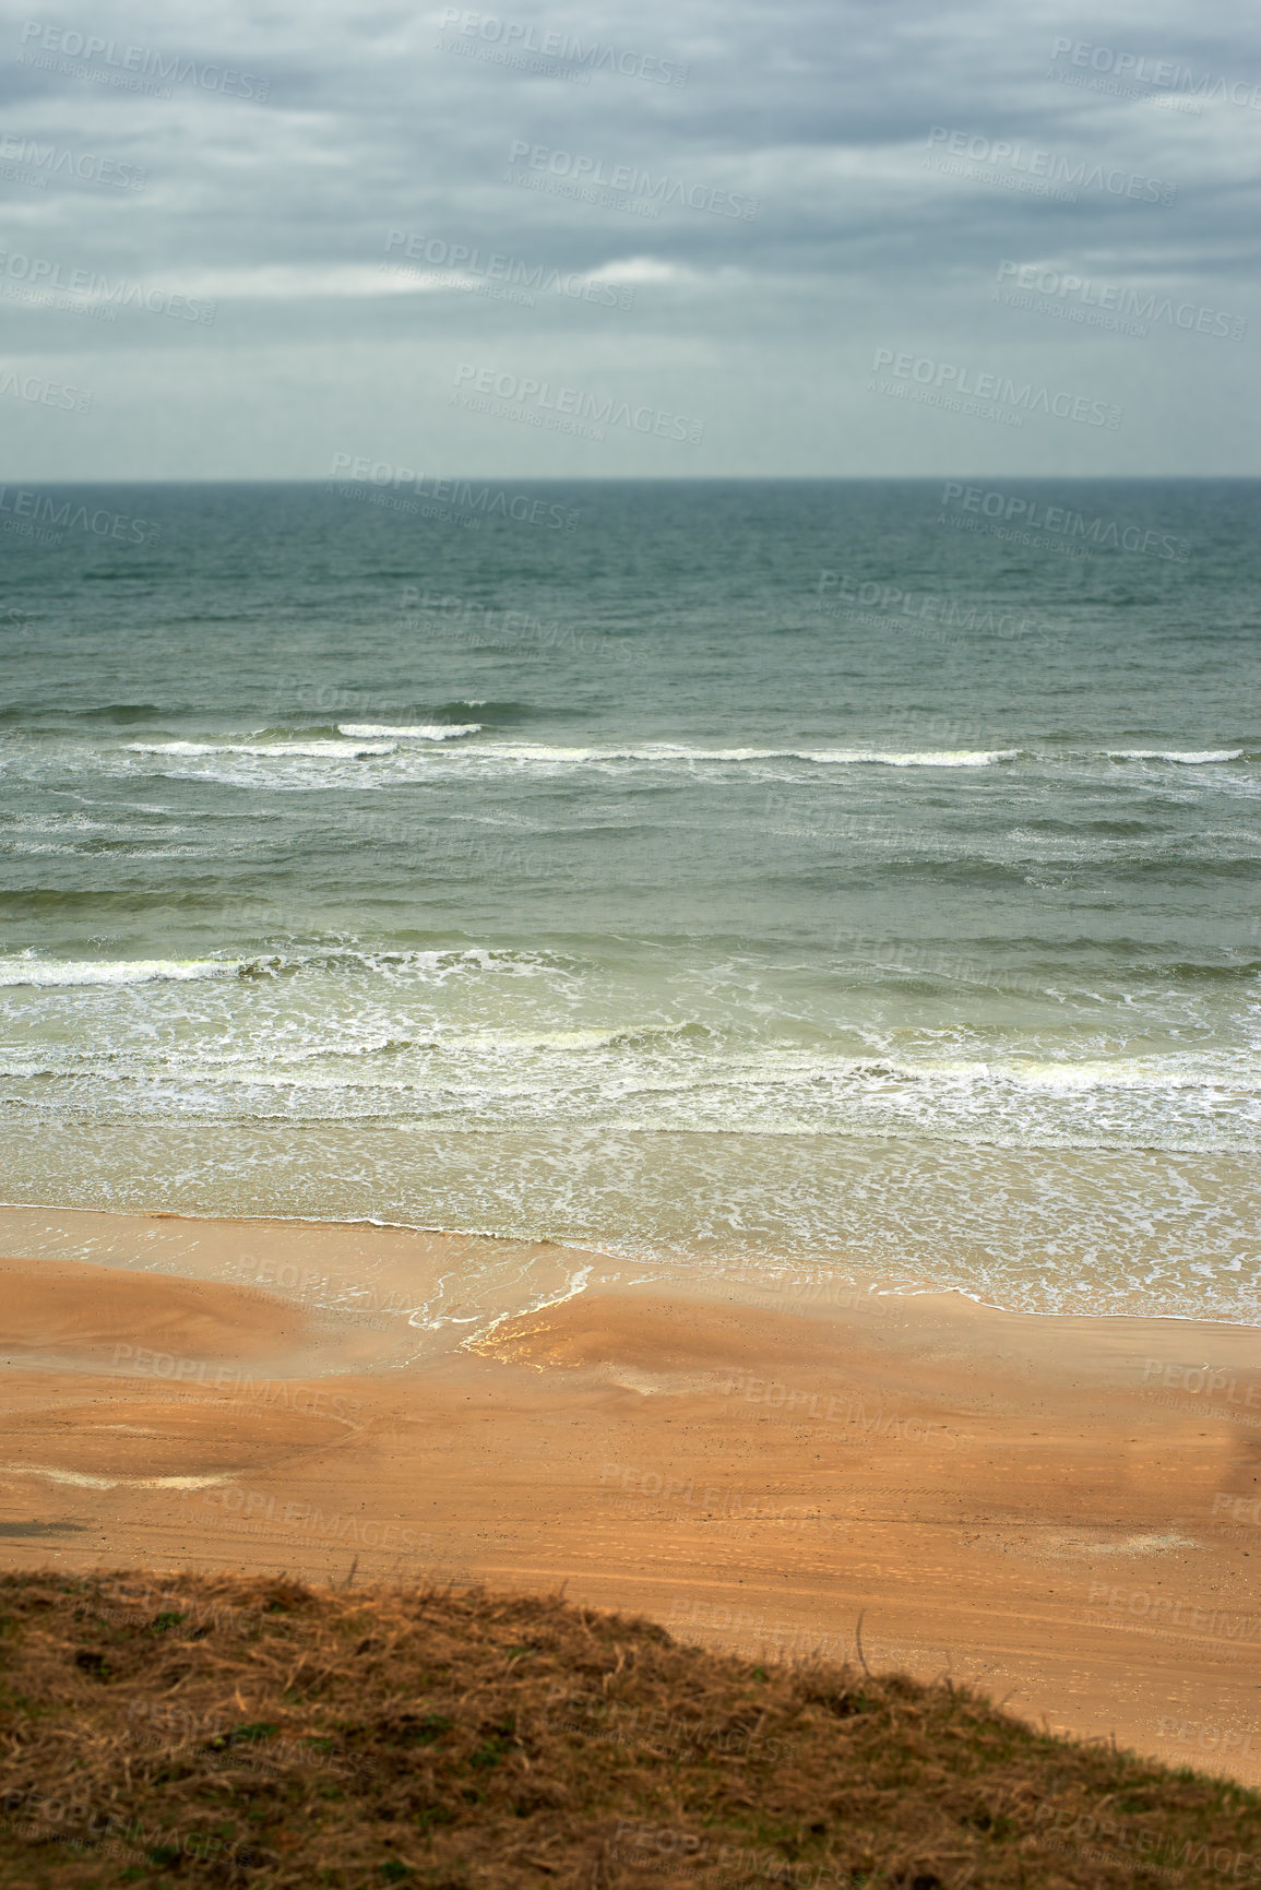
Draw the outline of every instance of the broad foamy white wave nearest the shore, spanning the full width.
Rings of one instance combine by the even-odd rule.
[[[783,1053],[775,1045],[650,1045],[601,1030],[439,1032],[410,1043],[242,1043],[236,1055],[144,1049],[19,1058],[6,1121],[344,1125],[439,1130],[686,1136],[701,1168],[739,1138],[858,1138],[1008,1149],[1244,1155],[1259,1085],[1246,1058],[1045,1057],[915,1060]],[[21,1085],[21,1089],[19,1089]],[[694,1138],[701,1138],[698,1143]],[[715,1140],[718,1138],[718,1140]],[[246,1155],[248,1162],[248,1155]],[[352,1164],[354,1166],[354,1164]]]

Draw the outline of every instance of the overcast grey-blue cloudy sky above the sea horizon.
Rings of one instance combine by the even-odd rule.
[[[1255,0],[0,13],[0,478],[1252,476]]]

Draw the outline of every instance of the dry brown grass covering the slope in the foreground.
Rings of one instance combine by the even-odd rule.
[[[0,1884],[1261,1879],[1261,1797],[561,1599],[0,1576]]]

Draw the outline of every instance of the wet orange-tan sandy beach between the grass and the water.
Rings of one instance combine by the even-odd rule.
[[[486,1582],[1261,1782],[1261,1334],[0,1210],[11,1567]]]

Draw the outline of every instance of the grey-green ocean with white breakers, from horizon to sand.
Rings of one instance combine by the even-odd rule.
[[[1257,1323],[1255,482],[365,471],[0,490],[0,1198]]]

